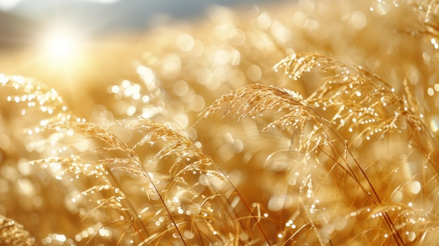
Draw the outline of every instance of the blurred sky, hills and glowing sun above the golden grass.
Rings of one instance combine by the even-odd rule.
[[[0,0],[0,73],[35,78],[67,104],[81,105],[90,93],[132,78],[133,62],[157,50],[158,36],[158,43],[175,42],[172,29],[198,28],[218,6],[245,13],[281,2],[287,1]]]

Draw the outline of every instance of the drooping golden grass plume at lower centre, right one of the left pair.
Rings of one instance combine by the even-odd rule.
[[[223,233],[220,233],[219,231],[212,231],[219,229],[219,227],[216,225],[216,223],[219,221],[205,221],[203,217],[198,217],[197,215],[198,213],[202,213],[205,217],[215,217],[219,215],[217,213],[222,210],[220,207],[230,206],[232,200],[240,199],[239,196],[237,196],[238,193],[235,187],[230,183],[229,179],[226,175],[224,175],[222,170],[215,163],[213,163],[208,155],[203,153],[201,149],[189,141],[189,139],[182,137],[182,135],[178,134],[167,126],[152,123],[151,121],[147,121],[143,118],[133,118],[130,120],[119,121],[118,124],[122,124],[125,128],[129,128],[131,130],[139,130],[145,134],[140,141],[135,143],[133,149],[138,150],[141,146],[144,146],[144,144],[163,145],[163,147],[159,149],[154,156],[149,158],[144,165],[145,170],[150,170],[155,166],[151,163],[157,163],[156,167],[158,170],[163,171],[156,170],[156,172],[159,172],[162,175],[166,174],[166,179],[170,180],[170,182],[168,182],[166,186],[163,186],[162,189],[157,189],[157,192],[161,194],[159,195],[161,196],[161,199],[163,199],[166,204],[169,203],[169,200],[179,200],[180,205],[184,205],[188,208],[195,208],[194,205],[198,204],[196,210],[193,211],[192,208],[189,208],[187,212],[187,215],[194,215],[186,218],[181,217],[180,215],[174,215],[174,223],[178,225],[191,225],[191,232],[187,233],[193,236],[193,233],[197,232],[196,235],[198,234],[203,238],[198,238],[197,235],[198,240],[203,242],[208,240],[206,242],[226,243],[229,239],[224,238]],[[170,163],[166,160],[161,161],[169,158],[173,158],[173,161]],[[164,165],[165,163],[168,164]],[[156,172],[154,172],[154,174]],[[203,186],[208,187],[208,190],[201,194],[198,193],[196,190]],[[184,191],[184,193],[181,191]],[[184,195],[189,197],[184,197]],[[238,204],[241,203],[243,202],[241,201]],[[220,205],[220,207],[217,207],[218,205]],[[173,214],[173,210],[175,210],[172,207],[173,206],[167,207],[170,214]],[[213,207],[216,208],[213,209]],[[244,205],[243,207],[247,207],[247,205]],[[183,210],[180,209],[179,211]],[[236,210],[236,212],[238,211],[239,210]],[[248,209],[247,211],[244,209],[238,213],[244,213],[245,217],[256,220],[255,215],[253,215]],[[228,224],[235,224],[233,227],[238,229],[243,225],[239,222],[232,222],[238,219],[237,216],[238,214],[230,212],[222,215],[222,217],[224,217],[223,219],[226,220]],[[182,219],[183,221],[181,221]],[[189,221],[187,221],[187,219],[189,219]],[[208,229],[208,231],[205,231],[203,227]],[[184,229],[181,230],[184,231]],[[261,228],[259,228],[259,230],[261,230]],[[213,237],[210,235],[211,233],[214,233]],[[248,231],[248,233],[250,233],[250,231]],[[163,236],[163,234],[160,235]],[[184,239],[184,237],[182,238]],[[157,238],[154,238],[154,240],[156,239]],[[248,240],[256,240],[256,238],[253,238],[251,235],[249,235]],[[264,240],[266,240],[266,238]]]

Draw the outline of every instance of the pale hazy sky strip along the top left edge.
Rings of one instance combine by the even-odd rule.
[[[284,1],[284,0],[276,0]],[[203,16],[212,4],[248,6],[271,4],[273,0],[0,0],[0,6],[9,13],[33,22],[63,22],[74,27],[89,26],[95,34],[121,30],[130,32],[145,29],[156,15],[173,18]],[[107,4],[102,4],[107,2]],[[9,3],[10,5],[7,6]],[[109,4],[111,3],[111,4]],[[13,8],[12,8],[13,6]]]

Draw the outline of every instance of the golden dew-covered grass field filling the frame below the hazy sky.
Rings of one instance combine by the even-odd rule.
[[[301,2],[294,25],[219,8],[212,36],[177,39],[204,53],[143,54],[139,83],[106,85],[85,118],[1,76],[0,245],[435,245],[438,4]],[[314,36],[335,13],[354,44]],[[374,28],[413,50],[370,48]]]

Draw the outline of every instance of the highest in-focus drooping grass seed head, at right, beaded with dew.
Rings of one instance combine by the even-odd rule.
[[[362,132],[358,137],[360,140],[370,139],[374,134],[382,139],[388,132],[400,132],[408,124],[414,132],[429,139],[425,149],[431,151],[431,135],[421,116],[411,110],[414,107],[397,95],[388,83],[364,69],[316,53],[291,55],[276,64],[274,69],[284,69],[286,74],[297,79],[315,67],[320,67],[327,76],[305,102],[316,110],[320,109],[320,114],[334,112],[332,116],[326,116],[330,117],[328,122],[349,132]]]

